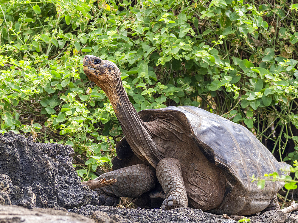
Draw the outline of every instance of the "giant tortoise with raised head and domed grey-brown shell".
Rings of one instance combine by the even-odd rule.
[[[113,170],[99,177],[117,179],[97,189],[104,205],[117,205],[124,196],[140,206],[189,206],[228,215],[279,208],[276,194],[284,184],[268,182],[261,190],[249,177],[283,174],[280,168],[287,164],[248,129],[194,106],[137,113],[113,62],[85,56],[83,66],[109,98],[125,136],[116,145]]]

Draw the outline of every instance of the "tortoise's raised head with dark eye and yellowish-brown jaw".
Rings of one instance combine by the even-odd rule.
[[[87,55],[83,59],[84,73],[90,81],[103,89],[115,87],[117,81],[121,81],[120,70],[111,61],[100,59],[99,57]]]

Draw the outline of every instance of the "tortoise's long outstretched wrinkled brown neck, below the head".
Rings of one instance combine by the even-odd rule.
[[[121,78],[119,77],[117,81],[113,81],[111,85],[97,85],[103,89],[109,98],[125,139],[131,149],[141,160],[148,161],[152,167],[156,168],[159,161],[156,154],[154,154],[154,151],[157,151],[156,144],[144,122],[140,119],[136,109],[129,101]]]

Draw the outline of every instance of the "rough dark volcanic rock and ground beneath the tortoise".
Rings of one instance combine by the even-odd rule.
[[[80,184],[72,167],[73,154],[69,146],[0,134],[0,222],[238,222],[191,208],[101,206],[97,194]],[[250,222],[294,223],[298,212],[267,211]]]

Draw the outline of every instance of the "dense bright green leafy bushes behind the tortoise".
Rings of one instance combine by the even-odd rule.
[[[110,164],[122,136],[105,93],[83,73],[86,54],[119,65],[137,111],[200,106],[246,125],[280,159],[298,158],[297,4],[2,0],[0,7],[1,132],[73,146],[84,179]]]

